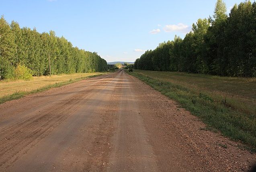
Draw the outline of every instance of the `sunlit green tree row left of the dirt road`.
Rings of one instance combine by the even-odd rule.
[[[50,61],[50,63],[49,63]],[[20,28],[0,19],[0,79],[15,78],[16,69],[29,70],[33,76],[100,72],[107,70],[106,61],[96,53],[73,47],[55,32],[39,33],[34,28]]]

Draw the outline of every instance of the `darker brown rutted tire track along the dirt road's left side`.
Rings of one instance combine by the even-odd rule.
[[[101,86],[97,86],[99,89],[106,86],[106,84],[111,82],[113,78],[111,78],[111,76],[106,76],[103,80],[108,81],[101,84]],[[53,106],[55,106],[55,108],[53,110],[48,108],[44,112],[36,113],[13,126],[3,128],[0,132],[0,167],[4,166],[8,160],[10,160],[11,163],[14,162],[17,159],[19,152],[25,153],[26,150],[37,144],[45,136],[49,135],[55,127],[76,112],[82,105],[82,101],[86,102],[87,98],[92,94],[97,94],[90,93],[90,87],[99,82],[102,82],[102,80],[94,82],[89,87],[86,87],[82,94],[76,94],[68,98],[68,100],[61,100],[61,102],[54,104]]]

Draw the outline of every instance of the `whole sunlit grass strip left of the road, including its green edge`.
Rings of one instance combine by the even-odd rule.
[[[86,78],[98,76],[106,72],[61,74],[53,76],[36,76],[31,80],[0,81],[0,104],[9,100],[71,84]]]

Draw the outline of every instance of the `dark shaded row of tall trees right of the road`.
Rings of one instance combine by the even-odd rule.
[[[135,61],[135,69],[220,76],[256,76],[256,2],[235,4],[229,15],[217,0],[214,15],[199,19],[185,38],[163,42]]]

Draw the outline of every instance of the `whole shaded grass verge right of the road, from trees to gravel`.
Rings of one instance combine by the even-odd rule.
[[[143,70],[129,74],[179,102],[208,128],[217,129],[256,152],[255,78]]]

